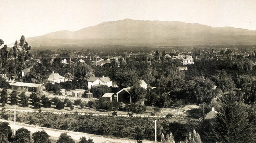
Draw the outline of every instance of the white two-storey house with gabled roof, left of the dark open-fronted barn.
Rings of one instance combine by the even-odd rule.
[[[88,89],[90,90],[91,87],[97,86],[97,85],[104,85],[111,87],[112,81],[109,77],[90,77],[88,80]]]

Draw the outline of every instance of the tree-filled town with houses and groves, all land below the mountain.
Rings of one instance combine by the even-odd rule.
[[[255,45],[0,43],[0,142],[256,141]]]

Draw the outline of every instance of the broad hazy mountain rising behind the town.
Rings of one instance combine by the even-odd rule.
[[[182,22],[124,19],[103,22],[78,31],[57,31],[27,38],[31,46],[120,44],[256,44],[256,31],[233,27],[213,28]]]

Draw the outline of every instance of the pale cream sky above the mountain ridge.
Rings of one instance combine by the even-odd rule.
[[[0,39],[10,44],[126,18],[256,30],[256,0],[0,0]]]

